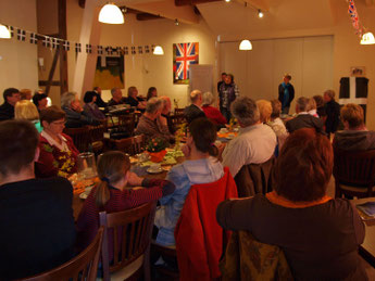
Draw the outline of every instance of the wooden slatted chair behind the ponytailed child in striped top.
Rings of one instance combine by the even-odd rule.
[[[100,226],[105,227],[102,244],[104,281],[127,280],[142,271],[143,279],[150,280],[150,243],[155,208],[157,202],[150,202],[123,212],[99,214]],[[108,243],[109,230],[113,231],[113,244]],[[113,250],[112,263],[109,247]]]

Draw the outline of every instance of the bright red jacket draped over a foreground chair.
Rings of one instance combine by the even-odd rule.
[[[216,221],[216,207],[226,199],[237,197],[236,182],[228,167],[215,182],[195,184],[186,197],[175,228],[180,280],[214,280],[221,276],[218,259],[223,253],[224,230]]]

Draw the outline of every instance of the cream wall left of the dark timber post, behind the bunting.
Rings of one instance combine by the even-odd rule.
[[[26,30],[36,30],[36,1],[35,0],[1,0],[0,22],[11,26],[17,26]],[[4,89],[38,87],[37,47],[12,39],[0,39],[0,102],[3,102],[2,92]]]

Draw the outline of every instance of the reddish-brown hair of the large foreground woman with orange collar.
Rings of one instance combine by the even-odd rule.
[[[311,128],[296,130],[276,161],[275,191],[293,202],[320,200],[326,193],[333,166],[334,153],[327,137]]]

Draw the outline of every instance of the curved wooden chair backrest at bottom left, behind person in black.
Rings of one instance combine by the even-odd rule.
[[[55,281],[55,280],[85,280],[97,279],[100,251],[102,246],[104,227],[98,230],[93,241],[80,254],[70,261],[45,273],[22,279],[23,281]]]

